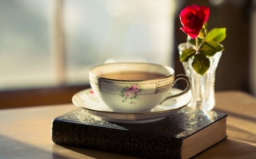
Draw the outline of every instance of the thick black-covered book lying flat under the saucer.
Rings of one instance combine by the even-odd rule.
[[[151,123],[113,123],[78,108],[52,121],[55,144],[142,158],[190,158],[227,137],[226,117],[187,106]]]

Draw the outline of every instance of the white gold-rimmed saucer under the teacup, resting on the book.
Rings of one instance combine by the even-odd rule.
[[[172,88],[169,94],[181,92],[180,89]],[[72,102],[80,108],[84,108],[88,113],[101,117],[105,121],[116,123],[148,123],[166,118],[172,111],[186,106],[191,101],[191,91],[181,96],[170,98],[161,105],[155,106],[145,113],[119,113],[113,111],[101,102],[92,89],[84,89],[77,92],[72,97]]]

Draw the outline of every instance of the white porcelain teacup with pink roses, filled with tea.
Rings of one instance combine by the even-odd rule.
[[[177,80],[187,81],[187,88],[168,95]],[[189,91],[187,75],[175,75],[173,68],[154,63],[107,63],[92,67],[89,80],[93,92],[114,112],[144,113],[163,101]]]

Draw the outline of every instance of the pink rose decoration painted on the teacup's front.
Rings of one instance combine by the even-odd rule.
[[[129,104],[136,104],[134,101],[137,99],[137,93],[142,91],[138,85],[131,85],[130,87],[123,88],[121,96],[124,98],[122,102],[128,102]]]

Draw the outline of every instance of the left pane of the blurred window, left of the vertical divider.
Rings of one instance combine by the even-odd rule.
[[[0,89],[54,83],[48,1],[0,1]]]

